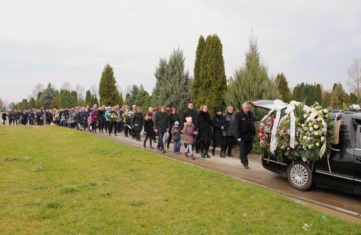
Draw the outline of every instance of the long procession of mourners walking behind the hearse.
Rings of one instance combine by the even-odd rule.
[[[78,129],[80,131],[90,131],[108,133],[124,132],[125,137],[131,136],[136,141],[141,140],[141,132],[144,130],[143,147],[149,139],[149,148],[154,149],[152,143],[157,143],[157,150],[165,153],[165,147],[173,140],[174,154],[181,153],[181,134],[184,135],[185,157],[195,159],[193,151],[201,155],[201,158],[210,158],[209,148],[213,141],[212,155],[215,156],[217,146],[221,146],[221,158],[232,155],[234,139],[239,143],[239,158],[246,169],[248,169],[247,155],[252,150],[253,137],[256,135],[255,120],[252,111],[249,111],[249,104],[244,102],[242,110],[236,114],[232,106],[227,107],[226,113],[222,113],[222,108],[217,107],[211,117],[208,106],[202,105],[197,111],[193,103],[189,102],[186,110],[179,116],[177,110],[170,105],[164,105],[160,109],[149,107],[143,116],[140,107],[133,105],[97,107],[72,107],[65,109],[41,109],[36,110],[8,110],[2,115],[3,125],[9,121],[9,125],[58,125]],[[132,118],[128,120],[123,114],[131,113]],[[109,119],[109,114],[116,115],[116,119]],[[213,131],[212,128],[213,127]],[[158,142],[156,141],[158,135]],[[228,151],[227,151],[228,150]],[[189,154],[189,155],[188,155]]]

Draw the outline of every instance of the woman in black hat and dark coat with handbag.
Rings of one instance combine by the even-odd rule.
[[[214,150],[218,145],[221,146],[221,158],[226,158],[224,154],[224,148],[227,144],[226,137],[223,137],[222,131],[225,132],[225,128],[227,127],[226,117],[222,115],[221,108],[216,108],[214,111],[212,118],[212,127],[213,127],[213,148],[212,148],[212,155],[214,156]],[[226,133],[226,132],[225,132]]]

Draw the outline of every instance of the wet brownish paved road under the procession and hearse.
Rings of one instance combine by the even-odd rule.
[[[96,135],[144,149],[143,141],[138,142],[131,137],[125,137],[124,134],[121,133],[118,134],[117,137],[114,135],[108,136],[108,133],[96,133]],[[144,139],[144,136],[142,139]],[[190,158],[184,157],[183,154],[175,155],[173,153],[173,144],[170,145],[169,149],[166,149],[165,154],[156,150],[155,143],[153,144],[153,147],[155,147],[154,150],[149,149],[149,141],[147,141],[147,148],[145,150],[172,159],[177,159],[185,163],[197,165],[205,169],[227,174],[242,181],[291,196],[292,198],[296,198],[296,201],[323,212],[361,223],[361,196],[322,188],[310,191],[296,190],[288,183],[286,178],[264,169],[259,155],[251,154],[249,156],[249,169],[244,169],[238,157],[232,158],[227,156],[226,158],[220,158],[219,149],[216,150],[216,156],[211,155],[211,158],[202,159],[200,154],[195,154],[196,160],[191,160]],[[183,146],[181,147],[181,151],[184,151]],[[334,210],[335,213],[330,209]]]

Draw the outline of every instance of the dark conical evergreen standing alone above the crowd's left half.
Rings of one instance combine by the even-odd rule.
[[[119,92],[115,84],[116,80],[113,68],[110,67],[109,64],[106,64],[99,83],[99,97],[101,104],[105,106],[114,105],[117,99],[119,99]]]

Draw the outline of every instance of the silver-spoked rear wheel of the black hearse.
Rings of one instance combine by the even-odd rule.
[[[313,185],[311,169],[303,161],[295,161],[287,169],[287,179],[297,190],[308,190]]]

